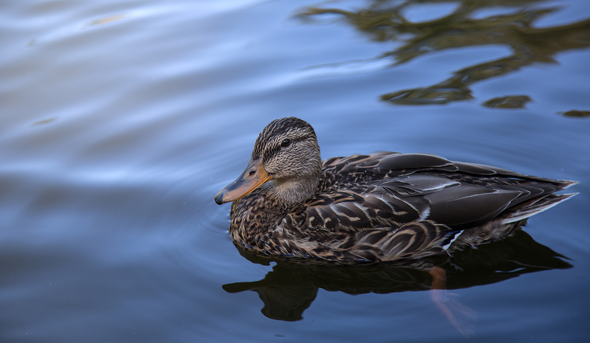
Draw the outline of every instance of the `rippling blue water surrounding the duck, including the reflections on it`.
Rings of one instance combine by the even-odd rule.
[[[4,1],[0,22],[0,341],[464,341],[427,273],[240,255],[213,197],[285,116],[324,158],[579,180],[441,264],[468,341],[588,341],[588,1]]]

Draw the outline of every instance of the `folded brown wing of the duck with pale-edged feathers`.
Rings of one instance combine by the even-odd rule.
[[[462,230],[496,217],[516,221],[534,215],[569,197],[552,193],[575,183],[400,153],[326,160],[322,180],[323,191],[294,208],[284,223],[362,231],[430,220]]]

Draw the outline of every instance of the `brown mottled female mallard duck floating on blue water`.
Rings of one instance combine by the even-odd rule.
[[[215,196],[247,249],[336,262],[451,253],[506,237],[574,194],[576,182],[527,176],[430,154],[375,153],[322,161],[306,121],[271,121],[248,166]]]

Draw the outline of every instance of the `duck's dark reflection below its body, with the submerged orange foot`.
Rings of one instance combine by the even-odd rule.
[[[242,256],[254,263],[277,263],[260,281],[223,286],[230,293],[257,292],[264,303],[261,312],[268,318],[281,321],[302,319],[303,312],[312,304],[320,288],[352,295],[430,290],[434,304],[466,336],[472,334],[476,314],[461,304],[453,293],[447,293],[447,289],[488,285],[525,273],[572,266],[564,256],[535,242],[523,230],[515,230],[504,240],[466,249],[453,256],[368,265],[335,266],[270,258],[236,246]],[[428,273],[428,268],[444,271],[446,282],[445,278],[436,280],[437,274]],[[431,285],[440,289],[431,288]]]

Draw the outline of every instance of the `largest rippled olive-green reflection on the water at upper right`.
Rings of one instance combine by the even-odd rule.
[[[509,57],[471,65],[455,71],[447,80],[429,87],[394,91],[381,100],[396,104],[445,104],[473,98],[470,86],[478,81],[506,75],[534,62],[555,62],[553,56],[570,49],[590,46],[590,19],[569,25],[535,28],[543,15],[558,8],[541,8],[542,0],[464,0],[450,14],[428,22],[411,22],[404,17],[410,6],[428,6],[441,0],[373,0],[358,11],[337,8],[309,8],[300,16],[339,15],[343,21],[368,35],[373,41],[402,43],[380,58],[404,64],[422,55],[453,48],[503,45]],[[477,18],[477,12],[506,9],[506,14]],[[536,6],[537,8],[532,8]],[[506,107],[504,107],[506,108]]]

